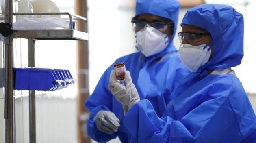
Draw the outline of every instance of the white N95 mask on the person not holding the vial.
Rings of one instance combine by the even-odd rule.
[[[150,26],[136,32],[135,37],[138,50],[146,57],[162,52],[169,44],[167,34]]]

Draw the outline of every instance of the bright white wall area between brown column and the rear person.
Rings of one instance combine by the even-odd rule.
[[[134,9],[129,4],[121,7],[128,1],[88,0],[90,93],[109,65],[136,51],[131,23]]]

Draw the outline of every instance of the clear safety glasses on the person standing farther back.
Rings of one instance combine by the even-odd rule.
[[[139,21],[139,20],[132,20],[133,28],[135,29],[135,32],[140,31],[141,29],[144,29],[146,26],[154,27],[155,29],[158,29],[161,32],[165,32],[168,26],[172,26],[173,22],[161,22],[161,21],[155,21],[155,22],[147,22],[147,21]]]

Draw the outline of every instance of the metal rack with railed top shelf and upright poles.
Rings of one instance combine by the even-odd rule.
[[[15,0],[18,1],[18,0]],[[5,37],[5,143],[13,143],[13,38],[28,39],[28,66],[35,67],[35,41],[36,40],[88,40],[88,33],[74,30],[72,20],[82,20],[87,23],[85,17],[71,15],[70,13],[13,13],[13,0],[5,1],[5,15],[0,15],[5,23],[13,23],[13,15],[69,15],[69,29],[54,30],[13,30]],[[74,17],[74,18],[73,18]],[[87,27],[87,25],[86,25]],[[87,29],[87,28],[86,28]],[[35,123],[35,91],[29,91],[29,139],[30,143],[36,143]]]

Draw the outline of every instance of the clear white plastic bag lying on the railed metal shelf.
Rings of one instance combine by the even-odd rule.
[[[24,18],[13,23],[14,30],[70,29],[69,21],[58,17]]]

